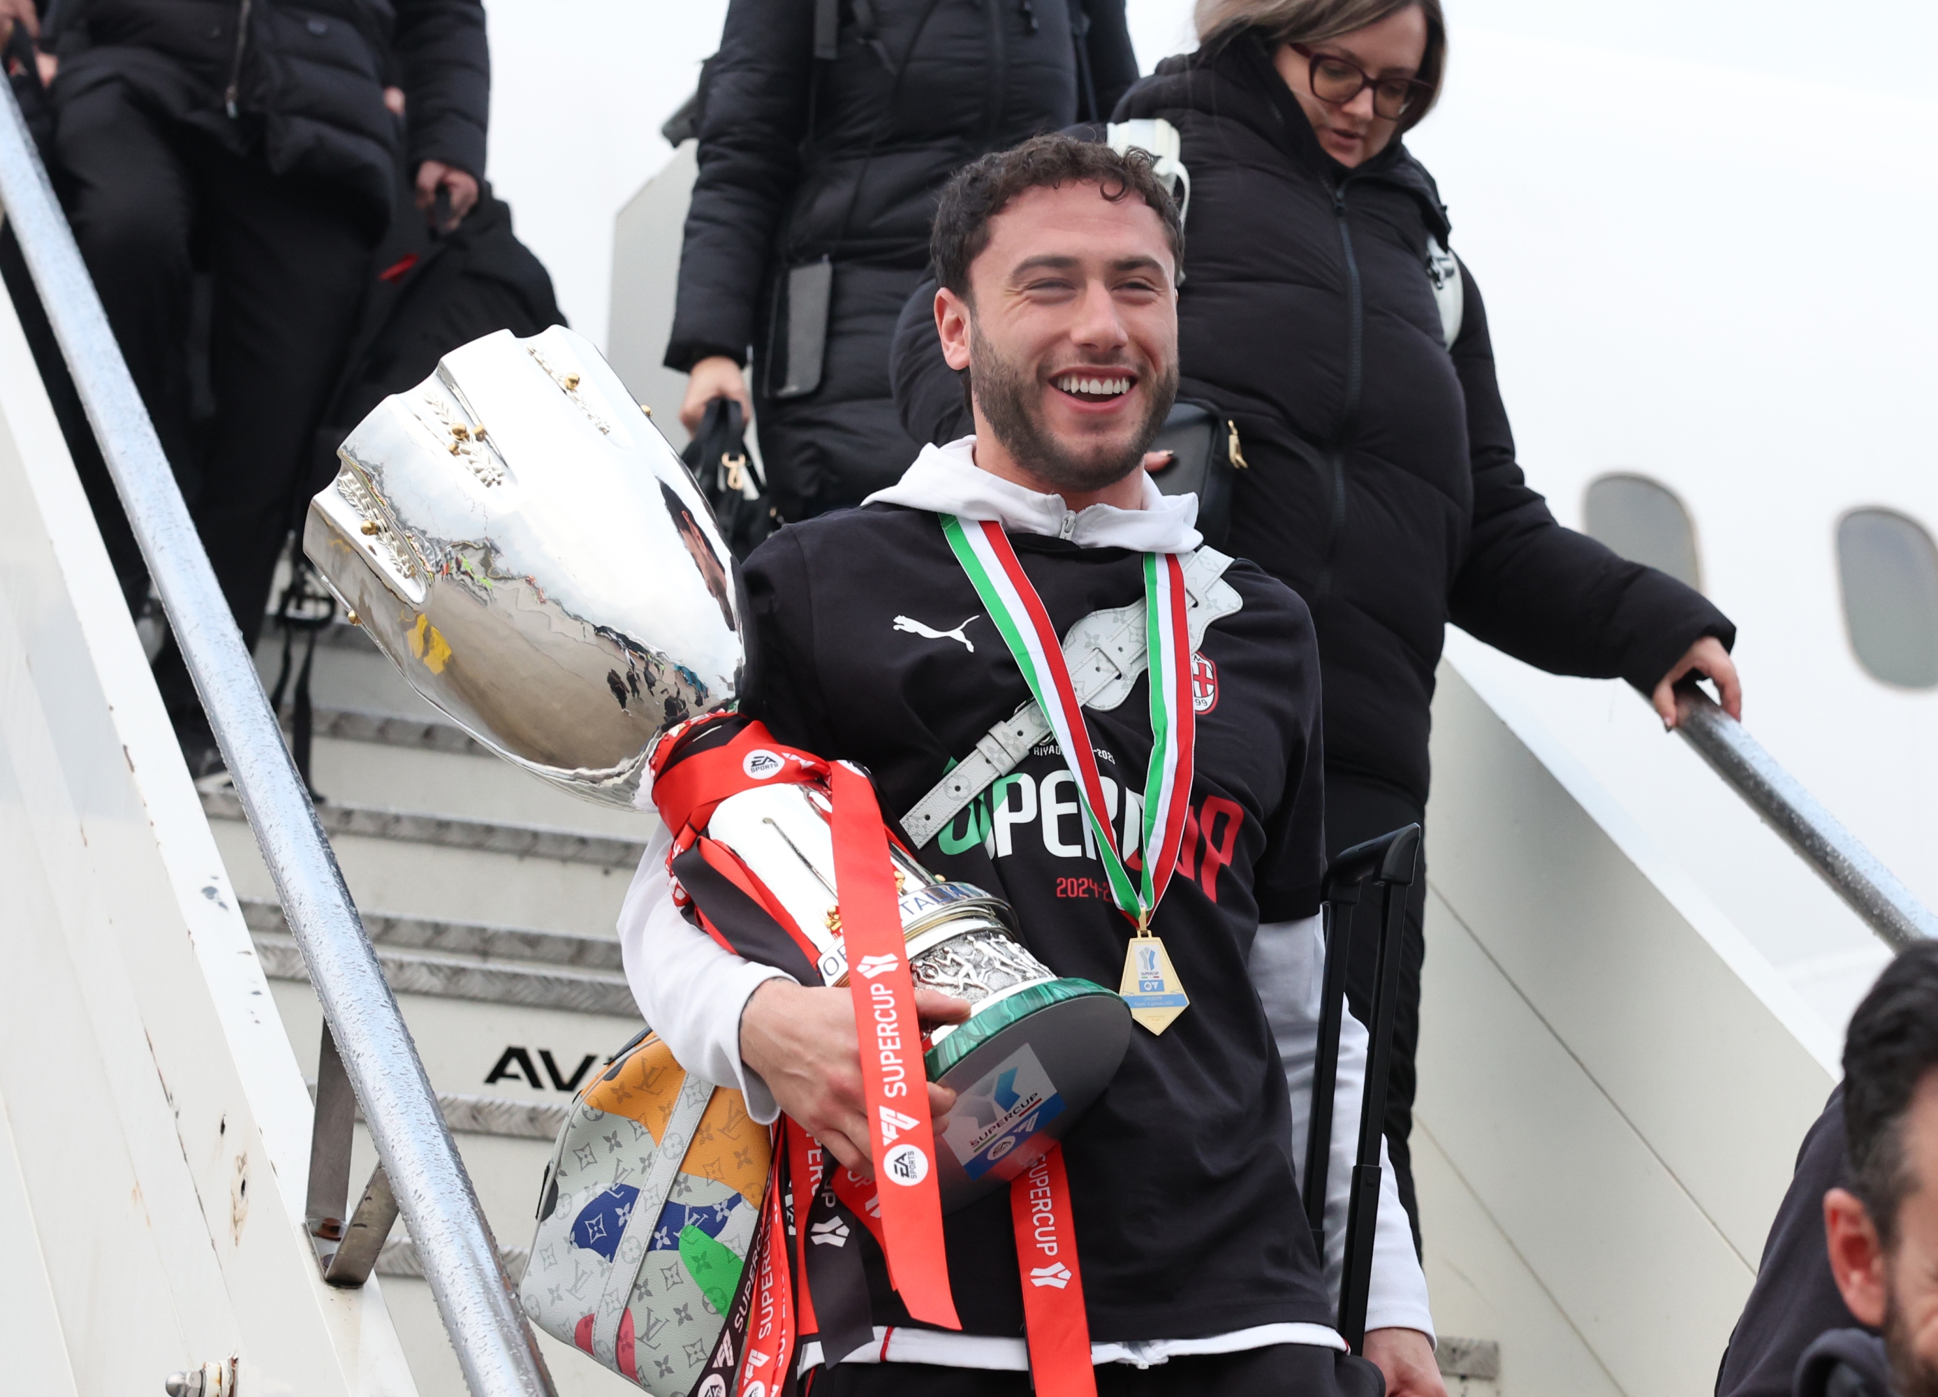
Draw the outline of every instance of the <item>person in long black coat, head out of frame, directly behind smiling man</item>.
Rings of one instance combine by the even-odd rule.
[[[1099,118],[1136,78],[1124,0],[733,0],[667,345],[686,428],[736,399],[789,519],[891,484],[915,444],[888,347],[944,180]]]

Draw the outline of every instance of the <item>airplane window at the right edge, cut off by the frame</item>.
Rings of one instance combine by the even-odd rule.
[[[1872,678],[1938,688],[1938,548],[1915,519],[1853,510],[1837,521],[1851,649]]]

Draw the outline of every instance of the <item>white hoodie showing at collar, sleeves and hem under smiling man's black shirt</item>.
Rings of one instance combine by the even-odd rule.
[[[975,463],[975,438],[926,446],[915,465],[866,504],[901,504],[971,521],[994,519],[1010,533],[1068,539],[1081,548],[1136,548],[1186,552],[1202,539],[1196,529],[1198,498],[1167,496],[1143,477],[1143,508],[1118,510],[1093,504],[1072,512],[1058,494],[1037,494]],[[647,843],[640,872],[618,916],[626,980],[640,1011],[688,1071],[703,1081],[744,1093],[748,1114],[762,1124],[779,1116],[767,1083],[740,1060],[740,1013],[752,992],[785,973],[754,965],[694,928],[672,905],[667,876],[671,835],[661,829]],[[1248,963],[1266,1017],[1279,1042],[1291,1089],[1291,1159],[1304,1161],[1312,1116],[1312,1071],[1318,1052],[1320,971],[1326,961],[1320,918],[1266,922],[1258,928]],[[1333,1300],[1345,1261],[1347,1192],[1359,1139],[1360,1091],[1366,1073],[1366,1029],[1351,1013],[1339,1033],[1339,1079],[1333,1091],[1331,1168],[1326,1190],[1326,1285]],[[1413,1252],[1413,1234],[1393,1168],[1380,1145],[1380,1217],[1372,1250],[1372,1290],[1366,1329],[1419,1329],[1434,1335],[1426,1304],[1426,1277]],[[1025,1372],[1023,1339],[963,1335],[936,1329],[876,1329],[876,1343],[845,1362],[924,1362],[948,1368],[998,1368]],[[1281,1343],[1343,1350],[1345,1341],[1326,1325],[1267,1323],[1200,1339],[1153,1335],[1136,1343],[1093,1343],[1093,1362],[1128,1362],[1140,1368],[1182,1354],[1238,1352]],[[802,1368],[822,1362],[820,1345],[806,1345]]]

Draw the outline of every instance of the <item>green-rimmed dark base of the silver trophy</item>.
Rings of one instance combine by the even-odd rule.
[[[936,1132],[942,1211],[1006,1188],[1070,1132],[1116,1075],[1130,1008],[1089,980],[1037,980],[985,1000],[924,1056],[955,1091]]]

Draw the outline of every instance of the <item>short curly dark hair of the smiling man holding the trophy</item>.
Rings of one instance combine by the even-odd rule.
[[[957,296],[969,298],[969,264],[988,246],[988,223],[1025,190],[1095,184],[1110,202],[1132,194],[1143,200],[1171,238],[1171,258],[1184,265],[1184,221],[1151,157],[1136,147],[1118,155],[1099,141],[1074,136],[1033,136],[1008,151],[992,151],[955,171],[942,188],[928,256],[936,277]]]

